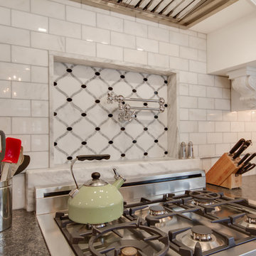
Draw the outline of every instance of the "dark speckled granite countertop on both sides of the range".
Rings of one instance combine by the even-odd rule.
[[[256,175],[242,178],[242,187],[229,190],[207,185],[207,189],[224,192],[226,196],[243,197],[256,201]],[[26,210],[13,211],[11,228],[0,233],[0,255],[4,256],[49,256],[46,243],[38,227],[35,213]]]

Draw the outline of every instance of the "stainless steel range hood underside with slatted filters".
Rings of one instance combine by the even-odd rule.
[[[169,26],[190,28],[238,0],[72,0]]]

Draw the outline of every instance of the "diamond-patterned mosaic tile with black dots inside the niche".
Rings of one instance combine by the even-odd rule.
[[[55,62],[53,80],[54,164],[67,163],[80,154],[110,154],[112,160],[169,155],[166,75]],[[118,103],[107,103],[110,91],[132,98],[164,97],[166,110],[140,110],[137,120],[119,122]],[[137,106],[158,104],[140,102]]]

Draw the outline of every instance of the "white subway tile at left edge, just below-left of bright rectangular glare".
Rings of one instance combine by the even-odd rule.
[[[11,28],[0,25],[1,43],[10,43],[18,46],[30,46],[29,31],[21,28]]]

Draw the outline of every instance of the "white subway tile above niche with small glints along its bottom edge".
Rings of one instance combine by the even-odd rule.
[[[89,42],[110,43],[110,31],[91,26],[82,26],[82,39]]]

